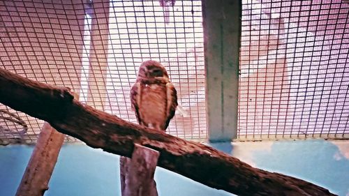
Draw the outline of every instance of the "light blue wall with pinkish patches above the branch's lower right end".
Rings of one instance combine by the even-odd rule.
[[[349,140],[238,142],[232,155],[260,169],[295,176],[349,196]]]

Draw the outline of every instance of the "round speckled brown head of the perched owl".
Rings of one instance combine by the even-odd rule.
[[[138,78],[142,80],[156,79],[156,78],[167,78],[168,73],[163,65],[158,61],[144,61],[140,65],[140,70],[138,70]]]

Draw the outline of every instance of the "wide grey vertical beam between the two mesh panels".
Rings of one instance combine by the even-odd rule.
[[[241,1],[203,0],[210,142],[237,137]]]

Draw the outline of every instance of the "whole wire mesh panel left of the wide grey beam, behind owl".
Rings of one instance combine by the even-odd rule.
[[[138,66],[161,61],[186,111],[168,133],[205,140],[201,9],[201,1],[0,1],[0,68],[68,86],[82,102],[136,122],[129,91]],[[0,140],[33,143],[42,127],[0,105]]]

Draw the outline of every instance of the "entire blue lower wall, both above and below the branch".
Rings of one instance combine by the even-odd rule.
[[[349,195],[349,141],[324,140],[211,144],[261,169],[296,176],[332,193]],[[32,146],[0,146],[0,195],[15,195]],[[232,195],[157,167],[158,192],[170,195]],[[119,195],[119,156],[68,144],[61,149],[45,195]]]

